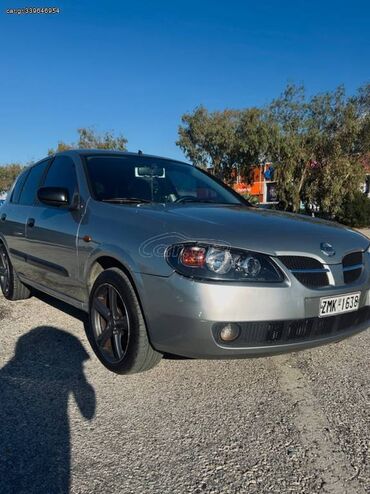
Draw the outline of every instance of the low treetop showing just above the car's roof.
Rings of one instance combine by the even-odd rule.
[[[63,141],[59,141],[57,148],[55,150],[49,149],[48,154],[51,155],[68,149],[112,149],[115,151],[126,151],[127,139],[122,134],[115,136],[111,131],[97,134],[94,129],[87,127],[77,129],[77,132],[79,139],[76,143],[66,144]]]

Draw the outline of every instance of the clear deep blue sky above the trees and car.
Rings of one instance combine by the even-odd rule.
[[[23,6],[59,15],[6,15]],[[0,163],[42,158],[76,129],[183,158],[181,115],[370,80],[370,2],[1,0]]]

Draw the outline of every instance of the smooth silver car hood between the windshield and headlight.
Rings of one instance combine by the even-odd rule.
[[[203,241],[270,255],[314,254],[331,264],[369,245],[364,235],[337,223],[280,211],[186,204],[166,206],[165,212],[163,227],[179,242]],[[325,255],[322,243],[330,243],[335,255]]]

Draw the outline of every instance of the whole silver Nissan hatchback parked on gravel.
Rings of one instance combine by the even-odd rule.
[[[186,163],[58,153],[18,177],[0,218],[4,296],[43,292],[86,313],[92,348],[117,373],[163,354],[296,351],[370,325],[366,237],[250,207]]]

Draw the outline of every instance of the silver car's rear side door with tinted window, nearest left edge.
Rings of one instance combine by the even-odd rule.
[[[10,200],[2,208],[1,231],[5,237],[12,264],[19,275],[28,278],[26,221],[32,214],[36,190],[50,160],[44,160],[25,170],[17,179]]]

